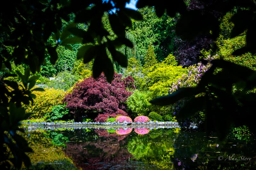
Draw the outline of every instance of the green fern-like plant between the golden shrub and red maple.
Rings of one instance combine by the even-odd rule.
[[[56,105],[52,107],[52,112],[46,113],[45,115],[49,115],[49,119],[47,121],[56,121],[56,120],[70,120],[71,115],[69,113],[69,109],[65,108],[66,104]]]

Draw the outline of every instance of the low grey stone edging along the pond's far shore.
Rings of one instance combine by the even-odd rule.
[[[28,125],[28,129],[37,129],[37,128],[43,128],[43,129],[55,129],[55,128],[92,128],[92,127],[98,127],[98,128],[180,128],[178,122],[158,122],[158,121],[149,121],[147,123],[144,122],[133,122],[128,123],[127,121],[124,121],[120,123],[119,121],[116,122],[74,122],[74,123],[54,123],[54,122],[40,122],[40,123],[33,123],[33,122],[27,122],[26,125]],[[196,129],[196,126],[191,126],[191,128]]]

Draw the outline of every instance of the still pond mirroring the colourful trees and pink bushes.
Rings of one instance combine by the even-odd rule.
[[[24,134],[30,169],[256,169],[256,141],[220,141],[179,128],[36,128]]]

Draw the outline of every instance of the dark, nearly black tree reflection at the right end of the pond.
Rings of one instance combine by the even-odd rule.
[[[241,156],[255,157],[255,140],[244,143],[228,135],[226,140],[206,136],[201,132],[181,132],[174,143],[175,154],[173,158],[174,169],[200,169],[207,170],[249,170],[255,169],[256,162],[225,160],[228,156],[235,154],[239,159]],[[223,160],[218,158],[223,156]]]

